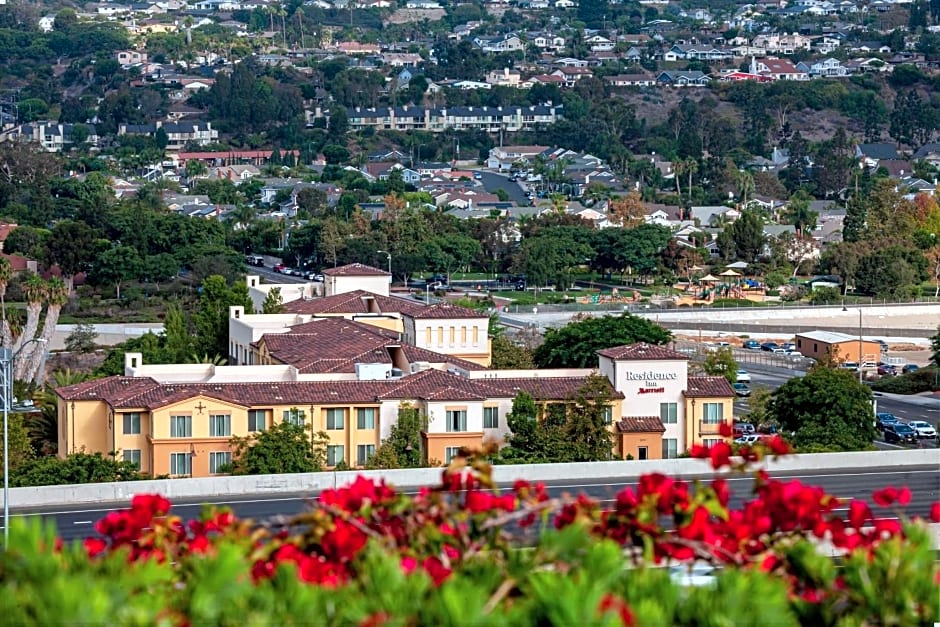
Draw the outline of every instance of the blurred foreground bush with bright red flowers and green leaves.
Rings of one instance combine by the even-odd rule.
[[[779,439],[694,447],[745,471]],[[207,509],[188,524],[157,495],[109,513],[67,546],[37,519],[0,555],[10,625],[917,625],[938,619],[937,566],[921,523],[877,517],[799,481],[753,473],[732,507],[724,477],[643,476],[609,509],[457,457],[416,496],[357,479],[282,528]],[[910,492],[874,495],[906,505]],[[847,508],[847,509],[845,509]],[[844,513],[843,513],[844,512]],[[940,503],[932,514],[940,518]],[[19,520],[16,522],[19,523]],[[843,551],[837,566],[814,544]],[[695,562],[718,570],[683,587]]]

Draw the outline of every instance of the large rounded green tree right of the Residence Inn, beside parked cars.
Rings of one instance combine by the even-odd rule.
[[[800,451],[861,451],[875,439],[871,401],[853,373],[820,365],[778,388],[768,414]]]

